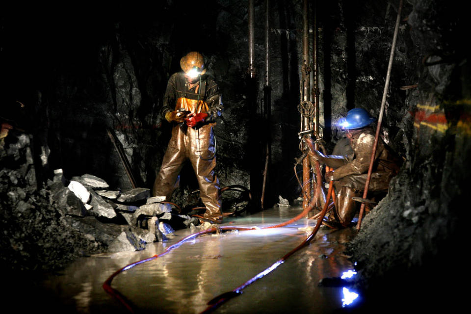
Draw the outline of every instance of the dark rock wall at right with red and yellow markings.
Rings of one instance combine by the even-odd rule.
[[[410,2],[406,35],[420,59],[411,81],[417,86],[407,90],[407,111],[397,124],[407,160],[349,250],[361,271],[365,307],[393,297],[393,309],[449,311],[455,305],[447,300],[463,296],[459,283],[466,278],[453,269],[466,238],[470,186],[469,53],[460,43],[464,20],[456,3]]]

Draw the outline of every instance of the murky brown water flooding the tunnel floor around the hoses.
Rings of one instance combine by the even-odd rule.
[[[226,219],[223,225],[263,227],[286,221],[300,211],[294,207],[267,209]],[[314,220],[301,219],[283,228],[204,235],[119,274],[112,287],[131,301],[136,313],[200,313],[213,297],[242,285],[300,244],[314,225]],[[161,253],[196,231],[176,231],[169,242],[148,245],[140,252],[82,258],[62,275],[48,278],[44,287],[61,306],[77,313],[129,313],[105,293],[105,280],[117,269]],[[322,227],[311,245],[215,313],[330,313],[340,309],[342,288],[317,284],[353,268],[342,254],[352,235],[351,229],[333,232]]]

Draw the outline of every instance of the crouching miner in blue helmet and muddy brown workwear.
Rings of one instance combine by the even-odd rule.
[[[351,147],[341,144],[343,147],[339,150],[337,145],[334,153],[336,150],[343,151],[341,156],[324,156],[317,151],[309,153],[311,158],[334,169],[327,172],[324,178],[327,182],[334,181],[337,190],[335,214],[344,227],[350,225],[359,205],[352,197],[361,197],[365,189],[375,138],[375,131],[371,127],[374,121],[365,109],[354,108],[337,122],[337,126],[346,132]],[[373,198],[385,195],[389,182],[399,171],[400,163],[400,158],[379,139],[368,188],[369,195]]]

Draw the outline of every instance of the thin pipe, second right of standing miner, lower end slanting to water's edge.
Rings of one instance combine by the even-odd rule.
[[[261,207],[264,208],[265,185],[268,175],[268,165],[271,155],[270,115],[271,115],[271,86],[270,86],[270,0],[265,0],[265,86],[264,86],[264,118],[265,124],[265,167],[263,169]]]

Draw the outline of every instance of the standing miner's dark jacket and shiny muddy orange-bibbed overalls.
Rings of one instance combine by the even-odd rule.
[[[205,75],[196,86],[189,89],[183,72],[172,75],[165,92],[162,115],[179,109],[192,113],[206,112],[208,118],[197,130],[184,123],[173,123],[172,137],[154,184],[154,196],[166,196],[167,200],[170,199],[178,186],[178,175],[184,161],[189,159],[198,179],[201,200],[206,206],[205,216],[220,217],[220,187],[214,172],[216,148],[213,126],[215,118],[221,115],[223,106],[217,84]]]

